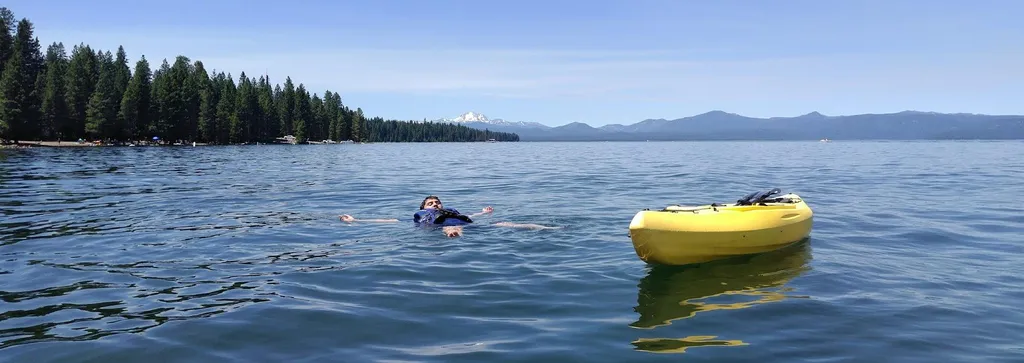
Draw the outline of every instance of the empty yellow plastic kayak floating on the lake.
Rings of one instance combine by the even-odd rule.
[[[640,259],[658,265],[699,264],[779,249],[811,233],[813,212],[796,194],[752,193],[731,204],[641,210],[630,221]]]

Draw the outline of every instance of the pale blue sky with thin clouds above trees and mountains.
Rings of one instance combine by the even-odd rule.
[[[44,47],[291,76],[394,119],[1024,114],[1024,1],[4,3]]]

